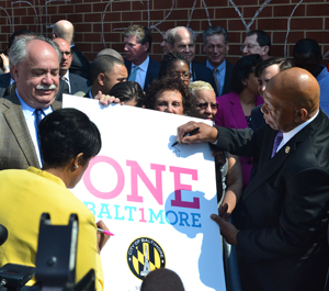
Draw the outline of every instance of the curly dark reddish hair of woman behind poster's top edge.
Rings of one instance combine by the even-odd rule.
[[[157,97],[164,91],[179,91],[182,94],[184,113],[190,112],[191,96],[188,86],[181,79],[172,79],[170,77],[157,79],[151,82],[146,91],[146,108],[155,109]]]

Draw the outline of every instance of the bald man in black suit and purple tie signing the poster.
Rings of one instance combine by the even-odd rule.
[[[322,291],[328,271],[329,119],[319,110],[320,89],[308,71],[290,68],[263,93],[266,125],[249,130],[190,122],[183,143],[216,142],[237,155],[259,157],[254,179],[242,194],[246,226],[227,221],[227,208],[212,219],[241,254],[242,290]],[[281,139],[281,141],[280,141]]]

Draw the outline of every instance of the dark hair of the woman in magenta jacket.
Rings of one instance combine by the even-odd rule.
[[[249,75],[254,72],[256,65],[261,61],[262,58],[258,54],[241,57],[231,72],[231,90],[238,94],[242,92],[246,87],[243,80],[248,79]]]

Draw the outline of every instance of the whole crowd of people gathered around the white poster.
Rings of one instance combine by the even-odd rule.
[[[214,126],[180,126],[178,141],[207,142],[213,150],[218,215],[212,219],[224,237],[227,290],[325,290],[329,72],[318,43],[298,41],[292,64],[271,56],[264,31],[250,31],[243,56],[234,65],[226,60],[228,33],[215,25],[203,32],[206,60],[200,64],[194,60],[196,34],[178,26],[163,34],[163,57],[157,63],[149,57],[150,30],[131,25],[123,33],[124,57],[105,48],[90,64],[73,35],[67,20],[55,23],[52,40],[16,31],[0,55],[0,223],[15,230],[0,247],[0,266],[35,264],[31,239],[41,213],[48,211],[64,223],[78,212],[79,237],[94,232],[94,240],[78,251],[77,279],[89,266],[97,270],[97,289],[103,289],[99,254],[107,239],[97,227],[107,228],[95,224],[66,189],[81,179],[101,138],[83,113],[61,109],[63,93],[69,93],[213,121]],[[196,127],[196,134],[183,138]],[[37,210],[36,200],[42,201]],[[18,225],[26,221],[33,227],[24,228],[26,242],[21,243]],[[183,290],[177,281],[177,290]],[[151,290],[150,282],[145,290]]]

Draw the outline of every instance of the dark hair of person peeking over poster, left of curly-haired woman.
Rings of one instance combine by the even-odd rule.
[[[118,98],[121,102],[135,100],[137,108],[141,108],[146,103],[145,92],[135,81],[118,82],[112,87],[109,94]]]

